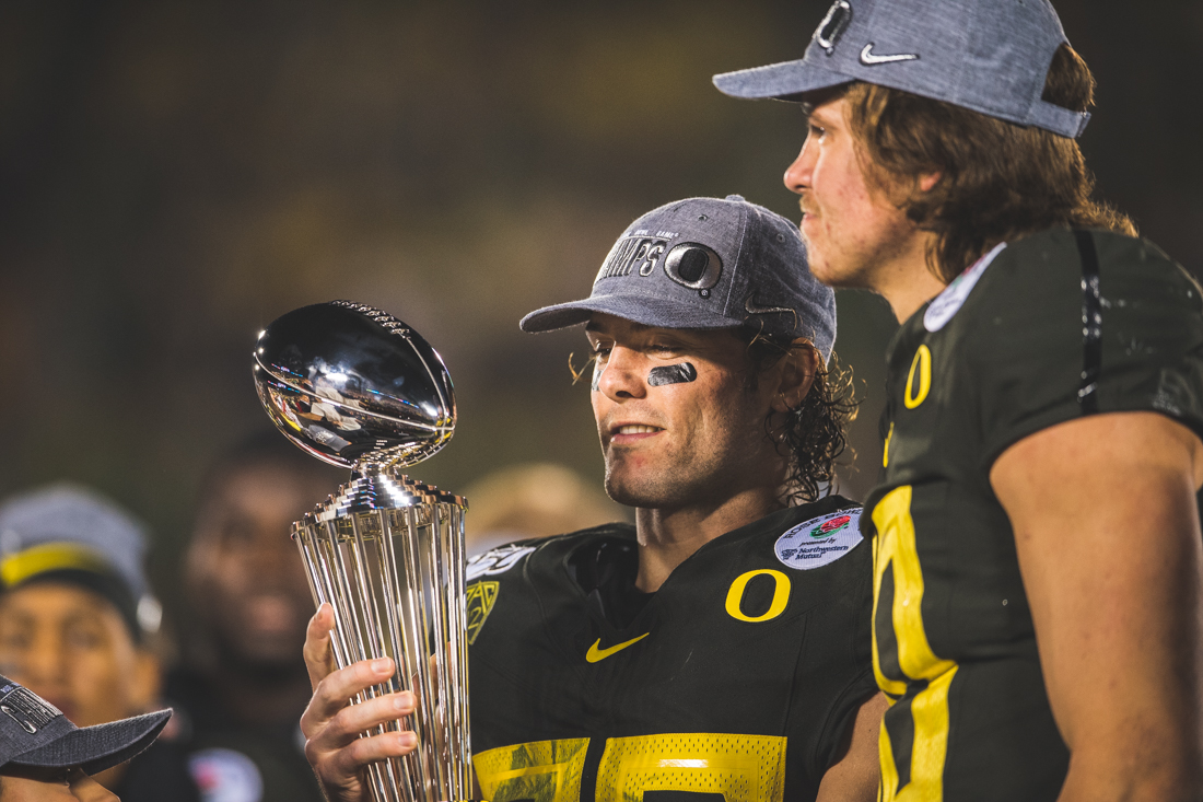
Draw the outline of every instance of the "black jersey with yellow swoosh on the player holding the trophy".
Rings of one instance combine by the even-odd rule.
[[[474,767],[493,802],[813,800],[870,664],[871,555],[831,496],[703,546],[654,594],[634,527],[469,564]]]

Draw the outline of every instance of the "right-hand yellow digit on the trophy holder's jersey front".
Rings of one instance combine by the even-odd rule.
[[[727,802],[781,802],[786,738],[687,732],[608,739],[598,767],[597,802],[638,800],[645,791],[722,794]]]

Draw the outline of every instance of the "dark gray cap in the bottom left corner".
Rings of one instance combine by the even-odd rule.
[[[77,727],[34,691],[0,677],[0,773],[7,765],[78,766],[88,774],[123,763],[149,747],[171,710]]]

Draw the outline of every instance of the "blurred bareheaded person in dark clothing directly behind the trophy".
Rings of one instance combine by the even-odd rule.
[[[292,521],[343,472],[265,431],[220,456],[201,488],[184,560],[191,627],[167,697],[206,802],[320,802],[298,727],[313,597]]]

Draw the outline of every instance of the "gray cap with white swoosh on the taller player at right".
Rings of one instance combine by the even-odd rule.
[[[1041,98],[1062,43],[1048,0],[835,0],[801,59],[716,75],[715,85],[801,100],[863,81],[1077,137],[1090,114]]]

